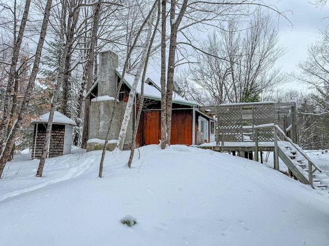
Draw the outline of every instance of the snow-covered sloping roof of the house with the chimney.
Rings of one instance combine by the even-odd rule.
[[[121,77],[122,71],[119,71],[116,69],[116,73],[119,77]],[[134,83],[135,76],[132,74],[124,74],[124,83],[129,87],[132,88],[132,85]],[[157,85],[154,80],[152,80],[152,83]],[[140,94],[140,88],[141,88],[141,83],[139,81],[138,86],[137,86],[137,94]],[[154,100],[161,100],[161,91],[158,89],[160,88],[158,85],[157,87],[151,86],[148,84],[144,84],[144,97],[149,98],[149,99],[154,99]],[[189,105],[189,106],[199,106],[195,101],[189,101],[184,98],[182,98],[180,95],[178,95],[176,92],[173,92],[173,103],[175,104],[181,104],[181,105]]]

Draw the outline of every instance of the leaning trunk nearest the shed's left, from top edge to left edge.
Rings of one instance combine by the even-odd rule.
[[[39,70],[40,57],[41,57],[41,52],[42,52],[45,36],[46,36],[51,4],[52,4],[52,0],[48,0],[46,9],[45,9],[45,13],[44,13],[42,27],[41,27],[39,43],[38,43],[38,46],[36,47],[36,51],[35,51],[33,68],[32,68],[29,82],[28,82],[28,85],[26,88],[26,92],[24,95],[20,113],[11,128],[11,131],[8,135],[5,147],[2,151],[2,154],[0,155],[0,174],[2,174],[4,171],[6,162],[8,160],[8,157],[10,156],[10,152],[12,150],[12,147],[14,146],[16,136],[19,133],[19,130],[23,123],[23,119],[25,118],[25,114],[26,114],[28,106],[29,106],[29,100],[30,100],[33,86],[34,86],[34,80],[35,80],[36,74],[38,73],[38,70]]]

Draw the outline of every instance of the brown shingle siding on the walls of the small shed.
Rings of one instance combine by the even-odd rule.
[[[36,131],[36,124],[34,126],[33,134],[33,148],[32,158],[39,159],[42,155],[42,149],[46,137],[47,124],[38,124],[38,130]],[[35,141],[36,136],[36,141]],[[49,146],[48,157],[56,157],[63,155],[64,151],[64,138],[65,138],[65,125],[53,124],[51,129],[51,138]],[[35,154],[34,154],[35,144]]]

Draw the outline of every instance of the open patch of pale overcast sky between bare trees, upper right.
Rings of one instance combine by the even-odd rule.
[[[329,25],[329,3],[325,7],[316,8],[309,2],[314,0],[266,0],[267,3],[278,7],[280,11],[287,10],[286,16],[293,23],[284,18],[280,18],[280,43],[285,45],[288,52],[280,58],[278,65],[282,66],[282,71],[296,70],[296,64],[299,60],[307,57],[307,45],[316,41],[319,37],[318,28]],[[293,13],[291,13],[290,11]]]

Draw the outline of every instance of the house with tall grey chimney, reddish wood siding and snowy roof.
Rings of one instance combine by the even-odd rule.
[[[99,78],[88,92],[92,100],[90,101],[87,150],[88,145],[93,144],[93,139],[105,139],[107,134],[114,98],[122,74],[117,67],[117,54],[112,51],[100,53]],[[133,75],[124,75],[124,83],[120,88],[116,117],[113,121],[109,139],[118,139],[133,80]],[[139,96],[140,83],[137,87],[137,99]],[[137,146],[159,144],[161,139],[161,90],[160,86],[150,78],[144,84],[144,98],[144,106],[136,138]],[[127,129],[124,149],[130,148],[137,107],[138,105],[135,103],[129,128]],[[172,108],[171,144],[199,145],[204,142],[215,141],[215,119],[200,111],[197,103],[186,100],[174,92]]]

